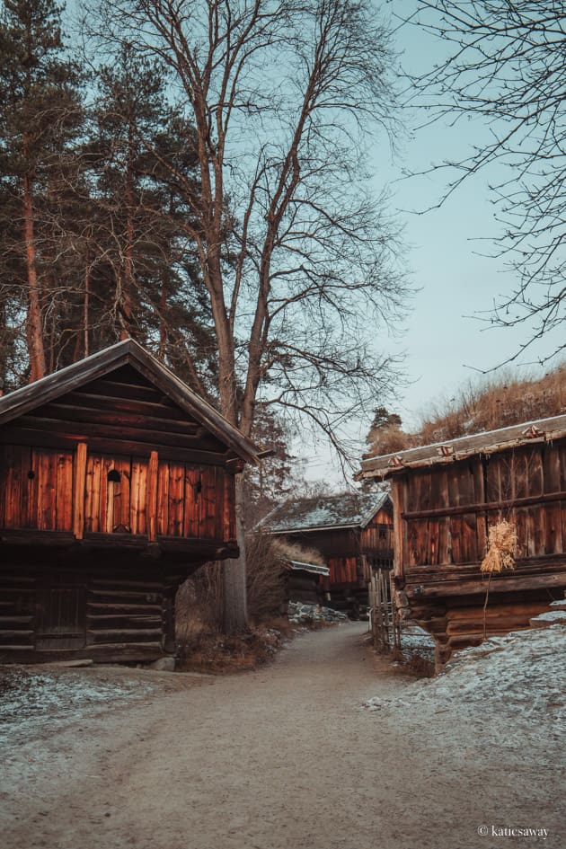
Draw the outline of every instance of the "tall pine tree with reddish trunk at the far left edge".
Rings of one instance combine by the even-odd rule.
[[[53,0],[4,0],[0,16],[2,287],[8,312],[25,317],[31,380],[52,366],[46,315],[65,300],[53,264],[60,253],[57,198],[75,173],[71,151],[83,119],[61,12]]]

